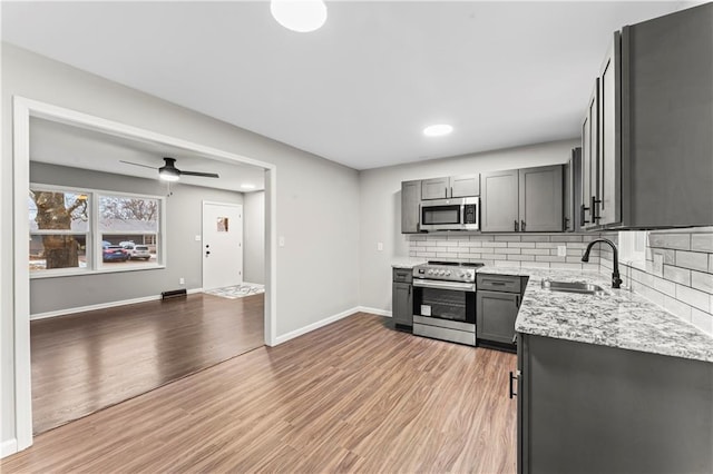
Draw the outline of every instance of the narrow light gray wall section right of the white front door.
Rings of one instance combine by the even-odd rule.
[[[243,200],[243,279],[265,284],[265,192],[246,192]]]

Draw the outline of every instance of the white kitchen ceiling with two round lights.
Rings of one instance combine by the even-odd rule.
[[[2,39],[368,169],[578,136],[612,32],[681,4],[329,1],[296,33],[266,1],[3,1]]]

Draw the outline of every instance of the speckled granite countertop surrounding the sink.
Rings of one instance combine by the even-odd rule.
[[[713,336],[592,270],[486,266],[478,273],[528,276],[515,330],[623,349],[713,362]],[[602,286],[606,295],[550,292],[543,279]]]

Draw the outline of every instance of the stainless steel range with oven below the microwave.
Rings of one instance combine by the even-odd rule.
[[[413,267],[413,334],[476,345],[476,268],[429,261]]]

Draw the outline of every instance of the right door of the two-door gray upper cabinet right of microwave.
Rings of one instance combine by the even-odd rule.
[[[520,231],[563,230],[561,165],[519,170]]]

